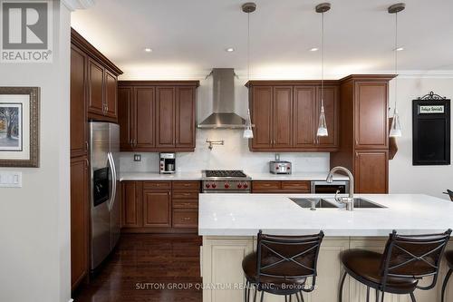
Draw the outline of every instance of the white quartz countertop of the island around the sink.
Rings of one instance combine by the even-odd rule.
[[[289,198],[310,194],[200,194],[200,236],[302,235],[322,229],[326,236],[388,236],[453,229],[453,202],[428,195],[357,194],[386,209],[304,209]],[[317,195],[320,196],[320,195]],[[323,197],[323,196],[320,196]],[[332,199],[332,196],[324,196]]]

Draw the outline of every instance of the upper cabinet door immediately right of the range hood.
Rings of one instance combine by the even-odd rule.
[[[255,124],[252,149],[271,148],[272,93],[271,86],[252,87],[252,123]]]

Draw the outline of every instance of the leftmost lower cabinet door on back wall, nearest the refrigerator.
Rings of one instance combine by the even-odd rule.
[[[122,227],[140,228],[143,225],[141,182],[122,182]]]

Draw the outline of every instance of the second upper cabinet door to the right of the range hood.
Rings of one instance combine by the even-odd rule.
[[[293,87],[274,87],[273,148],[291,148],[293,136]]]

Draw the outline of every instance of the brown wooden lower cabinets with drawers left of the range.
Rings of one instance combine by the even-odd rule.
[[[122,231],[196,233],[200,181],[122,182]]]

